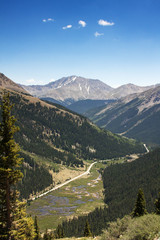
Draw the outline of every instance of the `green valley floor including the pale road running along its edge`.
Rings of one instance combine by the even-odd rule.
[[[133,162],[138,155],[86,162],[87,171],[30,199],[27,212],[36,215],[40,229],[56,229],[66,219],[74,219],[104,207],[102,171],[113,164]]]

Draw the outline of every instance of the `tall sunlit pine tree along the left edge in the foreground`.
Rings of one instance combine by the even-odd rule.
[[[16,183],[22,178],[19,170],[22,158],[14,141],[18,131],[16,119],[11,115],[13,105],[9,94],[2,97],[2,122],[0,123],[0,239],[29,240],[34,237],[33,220],[27,218],[24,203],[18,201]]]

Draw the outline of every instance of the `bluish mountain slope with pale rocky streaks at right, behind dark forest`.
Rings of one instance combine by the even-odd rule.
[[[153,146],[160,144],[160,86],[129,95],[86,116],[99,127]]]

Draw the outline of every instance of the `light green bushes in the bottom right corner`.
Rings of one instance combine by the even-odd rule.
[[[153,240],[160,237],[160,216],[147,214],[139,218],[125,216],[109,223],[101,240]]]

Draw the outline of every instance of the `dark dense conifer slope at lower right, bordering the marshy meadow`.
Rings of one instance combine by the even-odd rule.
[[[86,220],[93,235],[102,233],[107,223],[133,211],[139,188],[144,190],[146,207],[154,212],[154,201],[160,192],[160,148],[145,154],[131,163],[106,167],[103,173],[104,201],[106,207],[96,208],[87,216],[64,221],[65,236],[83,236]]]

